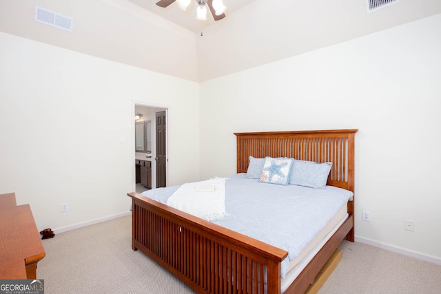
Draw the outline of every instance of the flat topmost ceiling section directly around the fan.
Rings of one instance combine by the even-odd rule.
[[[178,8],[176,1],[167,8],[161,8],[156,5],[156,2],[159,0],[127,0],[130,1],[137,6],[144,8],[154,14],[157,14],[164,19],[172,21],[177,25],[180,25],[187,30],[191,30],[192,32],[201,32],[207,26],[212,25],[214,23],[214,19],[210,14],[209,10],[207,12],[207,20],[206,21],[198,21],[196,20],[196,0],[192,0],[187,10],[183,11],[181,8]],[[227,7],[225,11],[225,16],[227,17],[229,14],[236,12],[247,6],[249,3],[254,2],[255,0],[223,0],[224,5]],[[225,21],[224,19],[220,19],[219,21]]]

